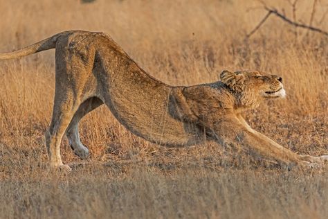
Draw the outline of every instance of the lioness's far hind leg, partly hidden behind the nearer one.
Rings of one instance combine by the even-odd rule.
[[[84,146],[80,140],[80,134],[78,130],[78,125],[80,120],[91,112],[93,109],[102,105],[103,102],[100,98],[92,97],[85,100],[75,112],[69,127],[66,130],[66,136],[69,139],[69,144],[74,151],[75,155],[78,155],[81,159],[86,159],[89,156],[89,150]]]

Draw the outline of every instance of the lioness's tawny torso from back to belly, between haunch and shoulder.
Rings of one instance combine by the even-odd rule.
[[[125,53],[99,49],[107,55],[93,68],[99,78],[98,93],[125,128],[163,145],[196,143],[197,130],[168,113],[172,87],[149,76]]]

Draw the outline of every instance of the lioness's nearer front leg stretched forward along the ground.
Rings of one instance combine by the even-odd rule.
[[[316,159],[304,159],[291,150],[256,132],[237,118],[226,119],[212,125],[212,132],[219,143],[234,143],[260,157],[272,159],[284,164],[313,166],[320,164]]]

